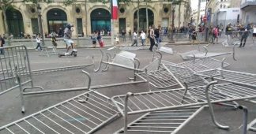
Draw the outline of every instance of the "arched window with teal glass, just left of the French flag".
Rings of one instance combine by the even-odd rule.
[[[111,31],[111,14],[107,9],[94,9],[91,13],[91,30],[100,32],[104,30]]]

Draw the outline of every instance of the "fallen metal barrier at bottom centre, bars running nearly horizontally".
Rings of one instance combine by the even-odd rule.
[[[126,128],[126,132],[175,134],[203,109],[204,106],[194,106],[177,110],[162,110],[147,113],[131,122]],[[121,128],[115,134],[124,133],[124,129]]]

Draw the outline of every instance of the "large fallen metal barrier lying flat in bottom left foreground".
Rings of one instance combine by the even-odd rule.
[[[118,112],[107,96],[88,91],[4,125],[0,133],[93,133]]]

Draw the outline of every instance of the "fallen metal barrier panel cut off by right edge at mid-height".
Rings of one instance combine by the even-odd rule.
[[[242,84],[250,87],[256,87],[256,74],[242,73],[227,69],[211,69],[195,73],[198,76],[213,77],[216,80],[224,80],[235,84]]]

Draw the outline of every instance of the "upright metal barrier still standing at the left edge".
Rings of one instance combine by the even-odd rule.
[[[0,48],[5,51],[0,55],[0,95],[19,87],[17,76],[21,80],[22,87],[28,84],[33,86],[27,48],[25,46]]]

